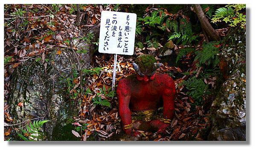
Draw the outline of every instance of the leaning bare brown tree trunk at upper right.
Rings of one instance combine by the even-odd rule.
[[[205,17],[204,11],[201,8],[201,6],[199,4],[195,4],[193,6],[194,6],[195,13],[197,14],[198,19],[201,23],[201,27],[203,31],[205,31],[205,33],[209,36],[210,40],[215,40],[215,41],[220,40],[218,33],[214,30],[214,28],[212,28],[211,24]]]

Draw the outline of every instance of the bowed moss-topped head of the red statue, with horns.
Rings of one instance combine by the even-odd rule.
[[[162,63],[157,63],[157,60],[152,55],[143,54],[137,57],[133,66],[137,73],[137,79],[139,81],[148,82],[154,80],[156,70],[162,66]]]

